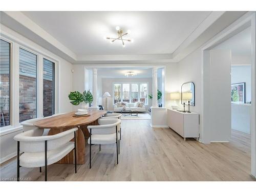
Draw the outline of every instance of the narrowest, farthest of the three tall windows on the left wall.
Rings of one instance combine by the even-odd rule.
[[[54,62],[44,58],[43,65],[43,115],[47,117],[54,114]]]

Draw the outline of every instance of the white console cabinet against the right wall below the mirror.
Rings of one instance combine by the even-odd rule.
[[[184,138],[199,139],[199,114],[167,109],[168,126]]]

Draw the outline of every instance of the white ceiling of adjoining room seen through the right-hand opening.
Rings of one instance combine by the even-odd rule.
[[[251,54],[251,28],[241,31],[214,49],[231,49],[232,56],[249,56]]]

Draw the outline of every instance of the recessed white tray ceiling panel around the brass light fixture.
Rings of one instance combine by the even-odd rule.
[[[33,22],[77,55],[170,54],[209,16],[209,11],[74,12],[25,11]],[[132,31],[122,47],[115,27]]]

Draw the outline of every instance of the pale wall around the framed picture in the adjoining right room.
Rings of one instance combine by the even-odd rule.
[[[231,84],[245,82],[245,101],[251,101],[251,66],[231,66]]]

